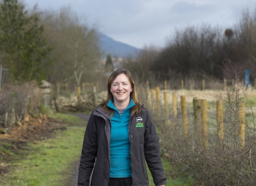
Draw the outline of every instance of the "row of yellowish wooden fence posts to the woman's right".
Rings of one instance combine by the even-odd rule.
[[[165,90],[166,81],[165,81]],[[146,88],[146,102],[149,105],[149,82],[147,81]],[[156,87],[156,100],[157,100],[157,114],[161,115],[161,100],[160,100],[160,88]],[[150,90],[151,92],[151,109],[155,112],[155,95],[154,89]],[[176,93],[172,93],[172,108],[173,108],[173,130],[177,128],[177,98]],[[183,136],[188,138],[188,126],[187,126],[187,109],[186,109],[186,96],[180,96],[181,100],[181,115],[183,122]],[[169,107],[168,107],[168,97],[167,92],[164,91],[164,104],[165,104],[165,115],[166,115],[166,123],[170,126],[170,117],[169,117]],[[194,123],[195,123],[195,131],[201,135],[202,133],[202,142],[204,148],[207,149],[207,100],[206,99],[198,99],[194,97],[193,99],[193,109],[194,109]],[[245,146],[245,106],[244,103],[239,103],[238,105],[238,122],[239,122],[239,142],[240,148],[243,149]],[[218,143],[221,145],[224,141],[224,129],[223,129],[223,103],[221,100],[217,101],[217,126],[218,126]],[[202,130],[201,130],[202,129]]]

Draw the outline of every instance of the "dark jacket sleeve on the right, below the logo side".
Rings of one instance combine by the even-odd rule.
[[[149,171],[153,177],[155,185],[166,184],[166,177],[164,174],[164,168],[159,151],[159,139],[157,137],[156,128],[154,122],[147,111],[147,122],[145,124],[144,133],[144,154],[148,164]]]

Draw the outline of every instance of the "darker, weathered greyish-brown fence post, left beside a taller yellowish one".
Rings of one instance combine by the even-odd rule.
[[[193,99],[193,109],[194,109],[194,123],[195,123],[195,134],[202,140],[202,128],[201,126],[201,99],[194,97]]]

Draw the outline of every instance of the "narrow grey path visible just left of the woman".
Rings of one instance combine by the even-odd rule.
[[[74,113],[73,115],[76,115],[78,117],[81,117],[83,120],[88,121],[91,114],[86,113]],[[81,147],[82,148],[82,147]],[[71,174],[69,182],[66,184],[66,186],[76,186],[77,185],[77,179],[78,179],[78,167],[79,167],[80,159],[71,165]]]

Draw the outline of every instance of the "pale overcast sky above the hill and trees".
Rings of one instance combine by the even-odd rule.
[[[28,7],[57,10],[70,6],[100,32],[142,48],[165,46],[175,29],[209,23],[228,28],[238,22],[244,9],[251,12],[256,1],[247,0],[23,0]]]

